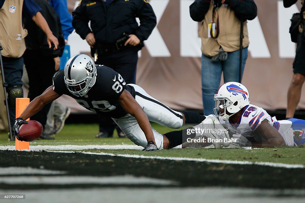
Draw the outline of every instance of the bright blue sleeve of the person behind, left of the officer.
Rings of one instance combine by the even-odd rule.
[[[50,5],[56,11],[57,15],[60,18],[60,24],[63,30],[63,37],[65,40],[68,40],[69,34],[74,30],[72,26],[72,16],[68,12],[68,6],[66,0],[52,0]]]

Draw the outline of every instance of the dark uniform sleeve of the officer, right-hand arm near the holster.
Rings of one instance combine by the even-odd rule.
[[[140,41],[147,40],[152,30],[157,24],[156,15],[148,2],[138,0],[139,7],[136,12],[136,17],[140,19],[140,26],[135,31],[135,35]]]

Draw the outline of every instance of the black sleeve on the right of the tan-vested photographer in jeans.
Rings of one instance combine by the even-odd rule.
[[[257,6],[253,0],[230,0],[229,6],[239,19],[253,20],[257,16]]]

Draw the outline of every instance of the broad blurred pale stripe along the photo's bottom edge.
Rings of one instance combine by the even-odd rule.
[[[3,202],[225,202],[225,203],[303,203],[305,191],[230,187],[95,187],[34,190],[0,190],[0,194],[25,194],[25,199]]]

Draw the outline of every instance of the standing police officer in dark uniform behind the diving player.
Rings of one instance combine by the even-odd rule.
[[[113,68],[127,84],[135,84],[138,51],[156,26],[149,1],[82,0],[72,16],[72,25],[90,45],[95,63]],[[140,26],[136,18],[140,19]],[[112,137],[113,121],[99,116],[99,124],[100,132],[96,137]],[[119,128],[117,130],[119,136],[124,136]]]

